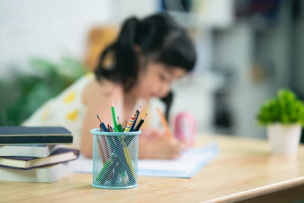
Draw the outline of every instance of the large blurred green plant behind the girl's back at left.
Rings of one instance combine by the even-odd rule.
[[[0,81],[0,125],[20,125],[86,73],[85,66],[71,57],[62,57],[59,63],[34,58],[30,67],[31,73],[12,70],[12,78]]]

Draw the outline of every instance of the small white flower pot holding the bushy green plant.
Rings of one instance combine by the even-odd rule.
[[[298,124],[268,125],[267,134],[273,154],[294,155],[297,153],[302,126]]]

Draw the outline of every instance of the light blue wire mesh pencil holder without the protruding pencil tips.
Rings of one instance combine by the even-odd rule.
[[[136,132],[103,132],[93,134],[93,182],[103,189],[137,187],[138,136]]]

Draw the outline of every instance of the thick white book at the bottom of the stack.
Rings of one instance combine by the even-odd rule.
[[[16,170],[0,167],[0,181],[53,183],[72,172],[69,162],[34,168],[31,170]]]

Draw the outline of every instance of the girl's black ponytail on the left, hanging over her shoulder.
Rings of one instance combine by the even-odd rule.
[[[121,82],[125,91],[128,91],[136,83],[138,57],[134,45],[138,24],[139,20],[135,17],[126,20],[116,42],[109,45],[101,53],[99,63],[95,69],[98,80],[103,77],[111,81]],[[104,67],[104,60],[111,52],[115,57],[115,64],[111,69],[107,69],[107,67]]]

